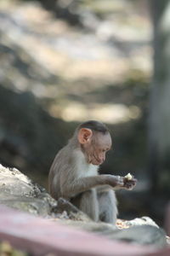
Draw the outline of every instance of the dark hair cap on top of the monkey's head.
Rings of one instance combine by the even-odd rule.
[[[82,125],[79,125],[78,130],[82,128],[88,128],[91,129],[92,131],[99,131],[102,132],[103,134],[109,132],[105,124],[95,120],[89,120],[87,122],[82,123]]]

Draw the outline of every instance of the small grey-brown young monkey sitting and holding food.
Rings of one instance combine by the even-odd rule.
[[[48,175],[49,194],[70,201],[95,222],[116,224],[115,189],[133,189],[133,177],[99,175],[99,166],[111,149],[107,126],[96,120],[78,125],[73,137],[56,154]]]

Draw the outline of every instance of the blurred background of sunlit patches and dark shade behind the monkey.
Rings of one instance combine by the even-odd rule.
[[[0,163],[47,188],[77,124],[105,122],[101,173],[139,179],[120,218],[163,225],[170,193],[170,1],[0,0]]]

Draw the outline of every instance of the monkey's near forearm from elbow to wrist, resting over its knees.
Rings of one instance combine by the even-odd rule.
[[[99,185],[110,185],[113,188],[120,188],[123,186],[123,180],[119,176],[113,175],[79,177],[70,183],[61,183],[61,196],[68,198]]]

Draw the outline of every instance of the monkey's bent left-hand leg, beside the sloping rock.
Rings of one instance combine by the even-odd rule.
[[[99,202],[96,189],[89,189],[71,199],[71,203],[94,221],[99,221]]]

